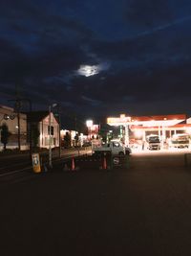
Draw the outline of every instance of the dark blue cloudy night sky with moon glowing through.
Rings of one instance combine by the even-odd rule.
[[[6,0],[0,24],[0,105],[191,114],[190,0]]]

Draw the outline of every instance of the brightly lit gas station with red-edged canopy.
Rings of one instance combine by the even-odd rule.
[[[125,145],[130,145],[131,140],[145,141],[146,136],[150,134],[159,135],[162,145],[174,134],[191,135],[191,118],[187,119],[185,114],[155,116],[121,114],[119,117],[108,117],[107,124],[123,128]]]

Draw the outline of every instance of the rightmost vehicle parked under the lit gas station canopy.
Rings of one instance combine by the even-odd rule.
[[[190,138],[187,133],[174,134],[170,141],[171,148],[179,148],[179,149],[187,148],[188,149],[189,144],[190,144]]]

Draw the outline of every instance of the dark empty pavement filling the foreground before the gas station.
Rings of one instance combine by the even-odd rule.
[[[0,205],[2,256],[191,255],[183,155],[133,155],[128,170],[36,175],[1,188]]]

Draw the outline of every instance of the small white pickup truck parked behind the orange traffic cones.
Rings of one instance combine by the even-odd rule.
[[[106,143],[106,144],[98,145],[98,146],[93,145],[92,151],[95,154],[103,154],[103,153],[110,153],[113,155],[126,154],[126,149],[122,145],[122,143],[115,140],[110,141],[109,143]]]

